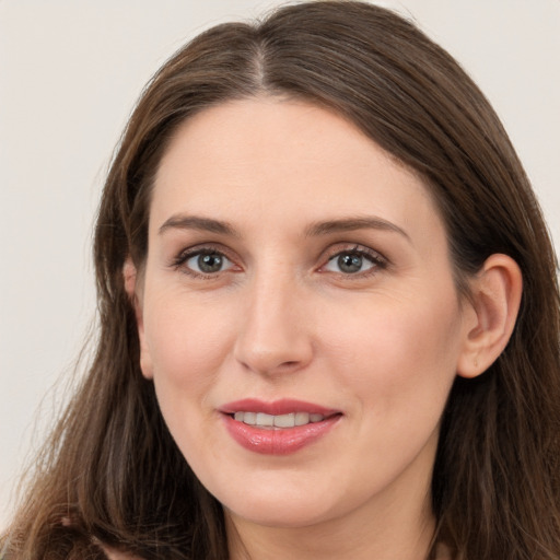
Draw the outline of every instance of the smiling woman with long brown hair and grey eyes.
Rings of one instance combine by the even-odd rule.
[[[409,22],[318,1],[200,35],[94,254],[97,353],[7,558],[559,557],[553,252]]]

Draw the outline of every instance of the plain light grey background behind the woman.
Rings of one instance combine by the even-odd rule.
[[[135,100],[185,39],[279,3],[0,0],[0,526],[94,316],[93,218]],[[413,16],[487,93],[560,246],[560,0],[378,3]]]

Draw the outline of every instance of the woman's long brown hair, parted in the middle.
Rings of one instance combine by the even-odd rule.
[[[145,559],[228,558],[222,509],[177,450],[140,373],[122,267],[128,256],[138,267],[145,259],[153,178],[178,124],[262,93],[345,116],[423,177],[460,292],[491,254],[520,265],[524,295],[509,346],[482,376],[456,380],[444,411],[434,542],[464,560],[558,560],[560,298],[541,213],[502,125],[455,60],[410,22],[354,1],[213,27],[147,86],[97,218],[96,354],[45,448],[8,558],[103,558],[95,540]]]

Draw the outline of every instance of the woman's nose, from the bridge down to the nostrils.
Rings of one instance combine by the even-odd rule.
[[[235,359],[264,375],[296,372],[313,358],[307,299],[293,279],[255,278],[235,342]]]

